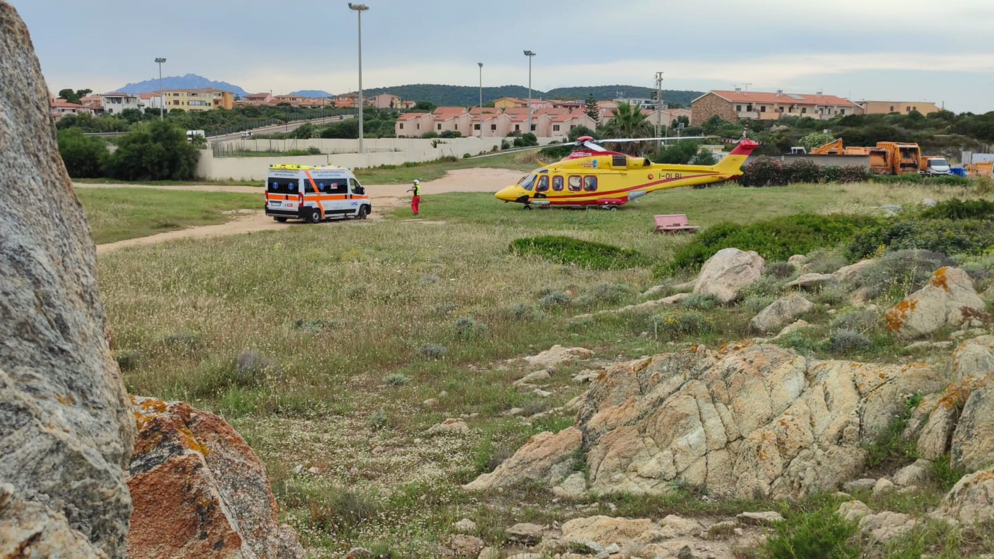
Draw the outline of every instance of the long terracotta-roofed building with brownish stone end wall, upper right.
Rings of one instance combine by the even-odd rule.
[[[744,118],[775,120],[781,116],[809,116],[827,119],[837,115],[861,114],[863,107],[853,101],[818,93],[776,93],[713,90],[691,103],[691,124],[701,124],[714,115],[729,122]]]

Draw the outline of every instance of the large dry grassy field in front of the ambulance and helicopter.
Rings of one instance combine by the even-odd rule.
[[[391,171],[400,180],[402,170]],[[94,231],[110,236],[100,219],[179,206],[189,193],[162,193],[169,198],[127,209],[101,201],[99,191],[80,194]],[[709,308],[708,327],[693,332],[657,330],[651,315],[639,313],[573,320],[640,300],[638,293],[656,283],[651,264],[585,270],[514,256],[511,241],[567,235],[634,249],[659,263],[690,237],[652,233],[656,213],[687,213],[709,226],[962,195],[879,184],[729,186],[651,194],[608,212],[524,211],[491,195],[446,194],[425,196],[416,220],[399,209],[379,222],[131,248],[102,256],[98,273],[129,392],[186,400],[232,422],[265,461],[284,517],[315,556],[359,545],[401,552],[416,539],[442,541],[462,517],[476,520],[481,537],[494,544],[514,522],[577,514],[535,487],[485,498],[458,488],[531,435],[573,423],[571,414],[527,423],[504,414],[563,406],[582,390],[569,377],[579,366],[557,369],[555,394],[542,398],[512,386],[522,370],[504,360],[556,343],[582,345],[605,359],[713,346],[749,336],[753,313]],[[193,199],[203,204],[196,212],[170,219],[211,219],[221,200],[255,204],[252,196]],[[810,317],[825,318],[822,310]],[[237,365],[240,354],[251,356],[248,366]],[[874,358],[909,359],[894,351]],[[437,402],[422,404],[428,399]],[[472,433],[425,437],[428,427],[452,417],[465,417]],[[297,466],[319,472],[294,472]],[[719,505],[692,494],[590,502],[603,513],[611,502],[653,517],[774,505]]]

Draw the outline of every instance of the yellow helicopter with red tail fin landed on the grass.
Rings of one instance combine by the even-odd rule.
[[[573,143],[580,149],[561,161],[529,173],[518,184],[502,188],[494,196],[505,202],[524,204],[526,209],[533,206],[599,206],[614,210],[655,190],[738,178],[742,176],[745,158],[759,145],[755,141],[743,139],[715,165],[657,164],[646,157],[632,157],[609,151],[599,145],[679,139],[692,138],[594,140],[591,136],[582,136]]]

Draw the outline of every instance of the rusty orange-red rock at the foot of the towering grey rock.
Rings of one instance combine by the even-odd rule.
[[[264,466],[230,425],[151,398],[134,399],[134,417],[130,559],[303,559]]]

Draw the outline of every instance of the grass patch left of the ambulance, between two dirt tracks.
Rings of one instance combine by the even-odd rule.
[[[97,245],[225,223],[229,216],[223,212],[261,207],[259,195],[228,192],[81,188],[76,195]]]

